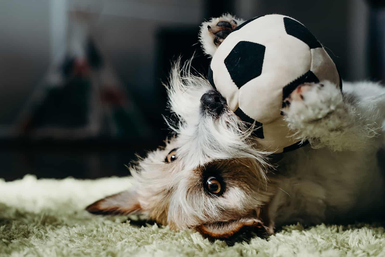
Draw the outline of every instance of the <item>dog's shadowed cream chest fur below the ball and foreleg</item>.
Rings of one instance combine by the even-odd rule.
[[[276,225],[333,222],[350,212],[359,215],[378,205],[384,191],[377,158],[365,151],[331,152],[306,146],[283,156],[277,179],[269,207]]]

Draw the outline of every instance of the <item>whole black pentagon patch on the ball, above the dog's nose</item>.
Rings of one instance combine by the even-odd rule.
[[[261,44],[240,41],[224,59],[230,77],[238,88],[261,75],[265,49]]]

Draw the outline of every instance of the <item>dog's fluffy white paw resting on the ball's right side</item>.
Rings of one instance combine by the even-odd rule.
[[[283,102],[282,112],[289,123],[318,121],[343,106],[340,89],[329,81],[302,84]]]

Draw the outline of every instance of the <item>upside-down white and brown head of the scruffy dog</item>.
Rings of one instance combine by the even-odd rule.
[[[272,232],[267,204],[274,193],[266,153],[206,79],[188,64],[172,70],[168,121],[177,136],[131,167],[136,185],[99,200],[99,214],[143,213],[171,228],[230,238],[246,228]]]

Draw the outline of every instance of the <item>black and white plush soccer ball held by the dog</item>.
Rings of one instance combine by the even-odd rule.
[[[264,15],[239,25],[219,45],[209,67],[210,83],[243,121],[256,121],[254,136],[269,151],[300,146],[290,137],[283,100],[305,82],[329,80],[342,88],[336,66],[300,22]]]

